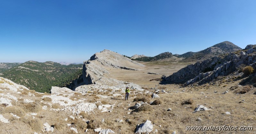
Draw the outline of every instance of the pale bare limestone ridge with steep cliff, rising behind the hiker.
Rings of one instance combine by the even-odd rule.
[[[84,62],[83,83],[85,85],[78,86],[75,90],[87,92],[88,89],[99,87],[119,90],[124,89],[125,86],[132,86],[134,89],[142,90],[139,85],[106,77],[107,74],[111,73],[111,69],[136,71],[142,67],[144,67],[144,65],[132,61],[116,52],[103,50],[100,53],[94,54],[90,60]]]

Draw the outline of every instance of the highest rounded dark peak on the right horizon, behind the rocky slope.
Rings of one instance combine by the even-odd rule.
[[[199,52],[188,52],[183,54],[185,59],[183,59],[180,62],[195,62],[198,60],[205,60],[210,57],[218,56],[221,54],[226,54],[230,52],[235,52],[237,50],[241,50],[242,48],[236,46],[232,42],[224,41],[221,43],[218,43],[214,46],[211,46],[209,48],[206,48]],[[182,56],[182,55],[180,55]]]

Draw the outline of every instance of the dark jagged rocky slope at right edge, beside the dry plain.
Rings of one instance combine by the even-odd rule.
[[[209,82],[218,76],[226,76],[234,73],[236,68],[241,64],[251,65],[255,68],[256,62],[256,45],[247,45],[245,49],[215,56],[204,61],[179,70],[176,73],[166,77],[162,77],[162,84],[193,84],[195,82],[201,84]]]

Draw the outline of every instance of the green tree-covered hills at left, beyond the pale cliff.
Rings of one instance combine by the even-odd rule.
[[[82,75],[83,64],[39,63],[28,61],[3,72],[0,76],[24,85],[30,90],[50,93],[51,86],[65,87]]]

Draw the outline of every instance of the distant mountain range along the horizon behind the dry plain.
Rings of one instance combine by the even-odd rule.
[[[147,57],[142,55],[132,60],[149,62],[149,61],[161,61],[161,60],[165,61],[164,59],[171,59],[173,61],[176,60],[179,62],[195,62],[195,61],[204,60],[210,57],[218,56],[221,54],[234,52],[241,49],[242,48],[236,46],[232,42],[224,41],[214,46],[211,46],[209,48],[206,48],[204,50],[201,50],[199,52],[186,52],[182,55],[179,55],[179,54],[173,55],[170,52],[165,52],[154,57]],[[136,55],[132,57],[136,57]]]

